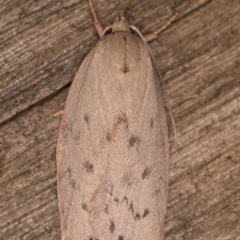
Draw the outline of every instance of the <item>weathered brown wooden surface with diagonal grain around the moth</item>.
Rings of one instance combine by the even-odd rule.
[[[111,24],[119,1],[93,3]],[[165,239],[240,239],[240,1],[125,4],[143,34],[179,13],[150,43],[177,130]],[[87,0],[0,6],[0,239],[61,239],[53,114],[98,35]]]

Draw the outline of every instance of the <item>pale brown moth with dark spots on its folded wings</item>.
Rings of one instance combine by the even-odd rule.
[[[89,4],[101,39],[73,80],[59,131],[62,239],[161,240],[169,143],[145,40],[166,26],[144,40],[121,17],[103,31]]]

